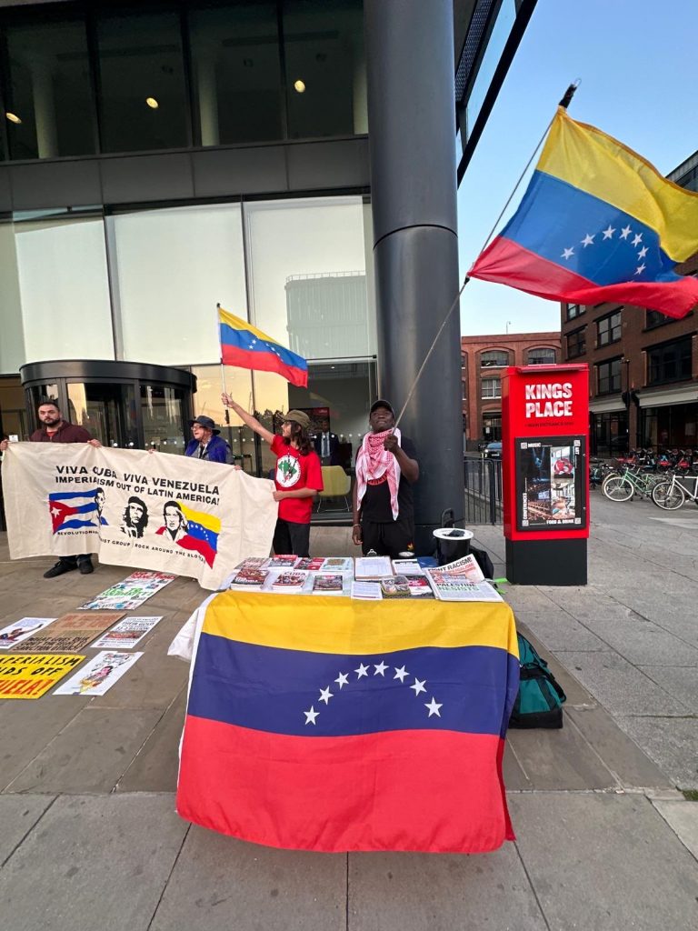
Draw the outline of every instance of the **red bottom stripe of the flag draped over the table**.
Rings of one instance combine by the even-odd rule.
[[[296,737],[188,715],[177,811],[273,847],[486,853],[515,839],[503,746],[454,731]]]

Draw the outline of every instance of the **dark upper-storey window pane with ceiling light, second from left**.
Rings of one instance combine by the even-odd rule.
[[[103,151],[188,145],[179,16],[101,13],[97,34]]]

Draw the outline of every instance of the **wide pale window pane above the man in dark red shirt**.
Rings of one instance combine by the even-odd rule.
[[[114,358],[101,216],[16,223],[15,239],[27,358]]]

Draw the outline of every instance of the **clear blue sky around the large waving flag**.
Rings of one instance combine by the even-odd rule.
[[[616,137],[663,174],[698,149],[697,12],[698,0],[538,0],[458,192],[461,280],[573,81],[581,83],[570,116]],[[554,301],[475,279],[463,291],[463,336],[559,327]]]

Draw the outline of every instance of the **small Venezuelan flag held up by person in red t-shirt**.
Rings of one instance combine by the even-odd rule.
[[[308,385],[308,363],[235,314],[218,308],[221,362],[239,369],[275,371],[291,385]]]

